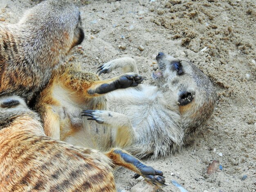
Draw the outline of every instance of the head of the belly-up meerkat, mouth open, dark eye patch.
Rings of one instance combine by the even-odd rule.
[[[165,94],[172,93],[182,115],[185,135],[202,127],[211,116],[216,91],[207,76],[195,65],[162,52],[156,56],[158,70],[153,80]]]

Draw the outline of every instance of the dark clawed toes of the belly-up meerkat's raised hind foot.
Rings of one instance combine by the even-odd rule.
[[[136,87],[141,84],[144,79],[144,77],[135,73],[124,74],[117,80],[117,87],[121,89]]]

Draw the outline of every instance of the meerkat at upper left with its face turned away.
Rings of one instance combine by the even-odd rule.
[[[60,0],[45,0],[18,23],[0,25],[0,96],[29,103],[83,38],[78,8]]]

